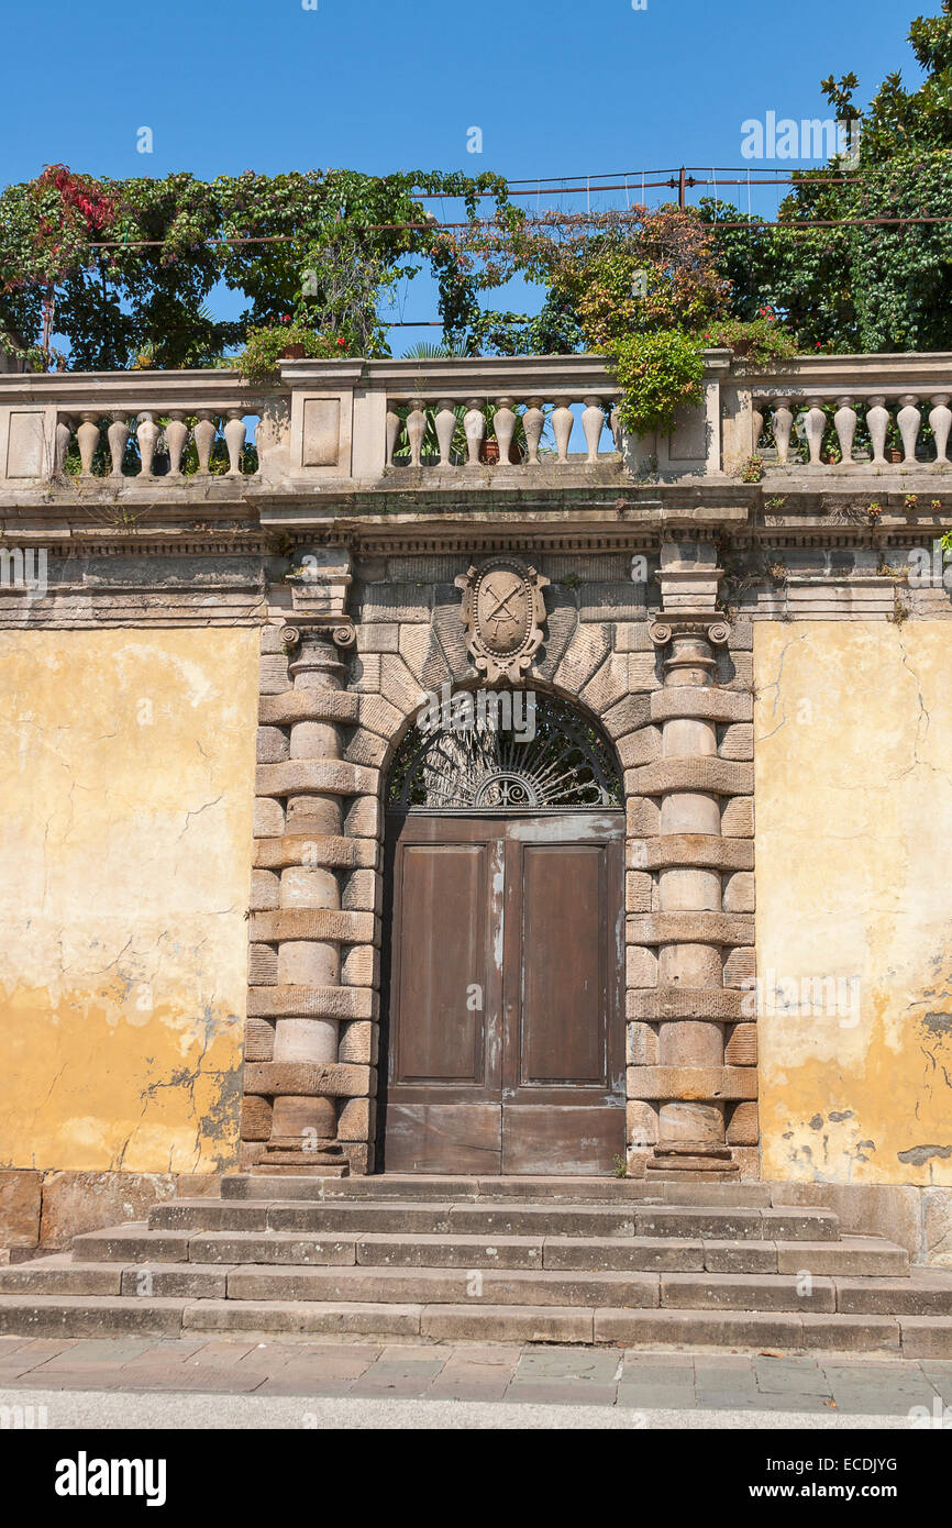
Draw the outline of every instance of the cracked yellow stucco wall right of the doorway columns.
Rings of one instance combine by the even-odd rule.
[[[764,1175],[952,1184],[952,622],[753,651]]]

